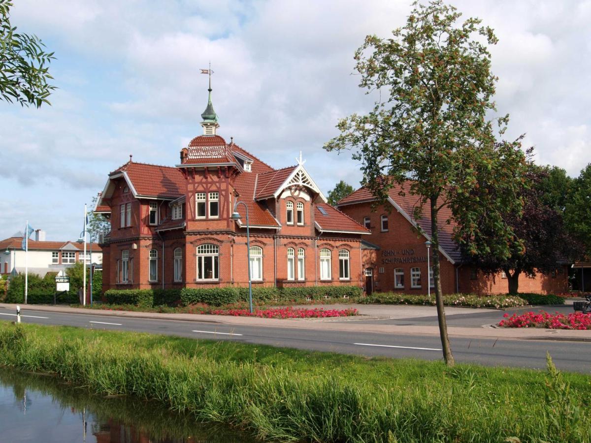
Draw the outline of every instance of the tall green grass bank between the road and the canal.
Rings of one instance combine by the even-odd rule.
[[[274,441],[591,441],[591,377],[552,370],[6,323],[0,365],[157,399]]]

